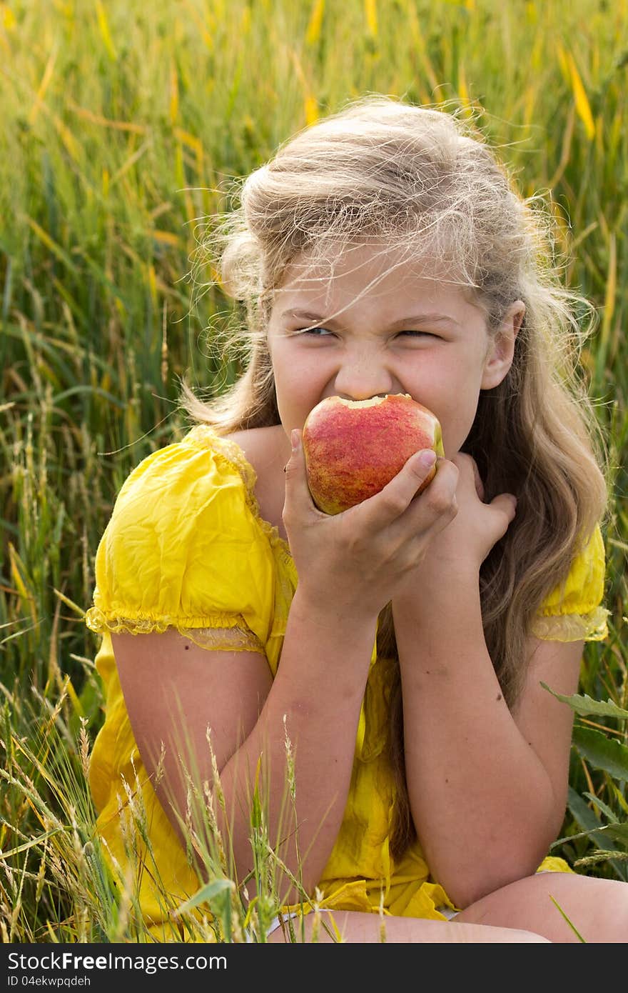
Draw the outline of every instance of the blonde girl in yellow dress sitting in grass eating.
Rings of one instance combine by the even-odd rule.
[[[128,880],[135,844],[142,911],[172,938],[163,894],[200,885],[190,782],[239,881],[257,788],[305,940],[295,878],[332,912],[319,939],[378,941],[383,914],[389,941],[577,940],[557,901],[586,941],[625,940],[628,887],[544,858],[572,713],[541,682],[575,692],[606,636],[607,495],[542,221],[460,121],[369,96],[249,176],[222,233],[248,367],[210,404],[184,387],[197,425],[130,475],[96,556],[112,866]],[[387,393],[439,417],[436,477],[417,496],[435,458],[417,453],[321,513],[307,415]]]

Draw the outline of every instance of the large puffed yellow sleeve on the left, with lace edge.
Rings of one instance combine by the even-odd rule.
[[[208,648],[263,651],[274,562],[241,468],[198,433],[146,458],[122,486],[95,559],[96,633],[175,628]]]

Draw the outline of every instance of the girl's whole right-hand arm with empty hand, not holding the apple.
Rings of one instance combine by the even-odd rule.
[[[413,817],[433,876],[467,906],[534,873],[557,837],[573,715],[540,682],[575,692],[583,642],[529,639],[527,681],[509,710],[483,635],[479,564],[514,506],[505,495],[482,503],[472,460],[453,461],[458,515],[393,617]]]

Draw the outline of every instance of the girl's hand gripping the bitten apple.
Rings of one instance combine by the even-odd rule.
[[[329,515],[314,505],[299,442],[286,467],[283,519],[301,595],[321,623],[373,619],[453,520],[458,471],[440,460],[436,477],[417,497],[432,466],[414,455],[381,493]]]

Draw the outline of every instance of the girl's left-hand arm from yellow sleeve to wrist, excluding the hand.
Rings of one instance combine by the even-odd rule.
[[[113,636],[131,726],[151,776],[164,743],[157,792],[184,844],[188,781],[182,761],[197,783],[212,783],[210,728],[225,804],[223,812],[213,789],[214,809],[225,851],[230,839],[237,878],[242,881],[253,866],[257,777],[269,843],[297,878],[300,853],[303,885],[314,888],[346,802],[376,620],[345,617],[341,626],[331,626],[297,591],[274,681],[266,658],[255,652],[208,651],[175,631]],[[286,734],[294,752],[295,809]],[[282,894],[286,888],[282,880]],[[255,887],[248,890],[252,896]],[[300,894],[292,891],[290,899],[298,901]]]

